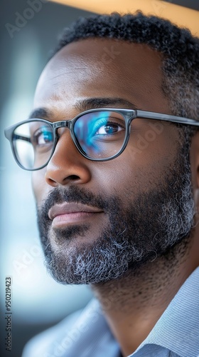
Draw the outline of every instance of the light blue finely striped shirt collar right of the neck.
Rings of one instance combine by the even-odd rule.
[[[136,357],[146,344],[162,346],[181,357],[198,356],[199,267],[183,283],[149,336],[131,356]]]

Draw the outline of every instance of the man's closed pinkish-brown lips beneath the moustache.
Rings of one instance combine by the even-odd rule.
[[[102,213],[102,209],[97,207],[87,206],[82,203],[69,203],[64,202],[60,204],[55,204],[48,211],[48,217],[52,221],[64,220],[68,221],[75,218],[83,218],[90,216],[94,213]]]

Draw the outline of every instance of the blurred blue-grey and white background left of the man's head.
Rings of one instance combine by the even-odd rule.
[[[97,12],[101,3],[94,0],[85,1],[87,4],[84,6],[83,1],[60,2],[70,6],[59,4],[59,1],[1,0],[2,357],[21,357],[23,346],[29,338],[57,323],[72,311],[84,307],[92,297],[88,286],[62,286],[55,283],[46,273],[36,227],[31,174],[15,164],[9,142],[4,139],[4,128],[26,119],[31,111],[38,77],[48,60],[50,50],[57,43],[58,34],[63,27],[68,26],[78,17],[90,16],[93,12]],[[133,4],[134,0],[131,2]],[[153,2],[161,3],[161,1]],[[198,0],[176,0],[167,3],[169,6],[172,3],[199,10]],[[31,7],[31,4],[35,4],[36,7]],[[83,9],[90,9],[92,13]],[[103,12],[103,8],[100,11]],[[11,276],[12,279],[11,352],[6,352],[4,344],[6,276]]]

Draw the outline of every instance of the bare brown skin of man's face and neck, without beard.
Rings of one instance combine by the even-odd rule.
[[[109,54],[111,46],[114,46],[112,55]],[[103,104],[102,101],[99,107],[138,108],[171,114],[161,83],[161,55],[148,46],[87,39],[65,46],[48,63],[38,82],[34,108],[45,108],[50,112],[46,119],[61,121],[93,108],[92,104],[82,106],[82,101],[109,98],[112,102]],[[142,121],[140,132],[144,133],[148,125]],[[198,139],[199,133],[192,141],[190,163],[195,206],[199,208]],[[173,164],[178,141],[178,129],[166,123],[162,133],[140,154],[132,157],[130,138],[127,149],[119,157],[94,162],[77,151],[69,131],[62,129],[48,166],[33,173],[38,206],[53,188],[72,185],[87,188],[94,194],[117,193],[123,203],[127,197],[134,200],[137,192],[155,188],[156,181],[161,183],[164,173]],[[84,223],[84,219],[90,220],[90,231],[85,237],[76,237],[72,241],[74,245],[95,240],[96,234],[107,224],[103,213],[95,215],[95,219],[82,218],[79,224]],[[197,215],[195,223],[198,223]],[[186,246],[180,244],[173,248],[174,263],[169,256],[157,258],[141,266],[134,276],[127,274],[93,286],[123,356],[133,353],[144,341],[185,279],[198,266],[198,229],[196,225]],[[57,248],[53,238],[50,243]]]

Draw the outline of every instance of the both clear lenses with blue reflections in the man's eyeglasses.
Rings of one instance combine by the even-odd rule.
[[[124,144],[125,119],[114,111],[94,111],[78,117],[73,126],[80,152],[90,159],[108,159]],[[59,130],[59,129],[58,129]],[[13,134],[16,158],[24,169],[38,169],[47,164],[54,147],[53,129],[45,121],[28,121]]]

